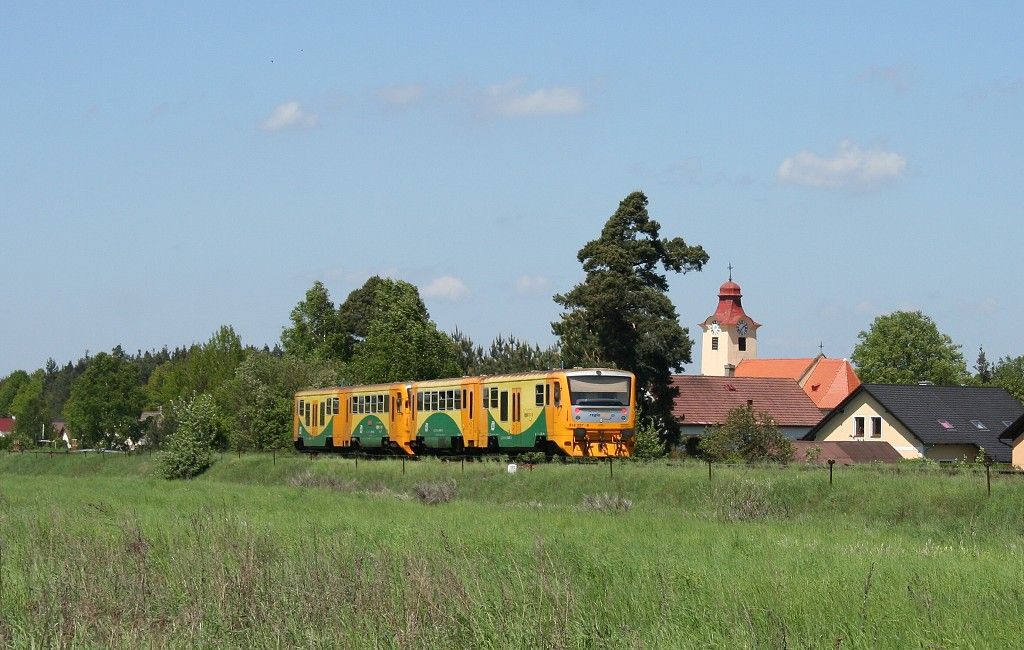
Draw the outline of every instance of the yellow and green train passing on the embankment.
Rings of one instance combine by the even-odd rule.
[[[303,390],[292,436],[307,451],[630,456],[635,381],[572,369]]]

